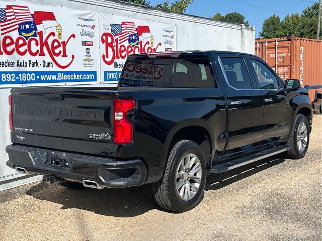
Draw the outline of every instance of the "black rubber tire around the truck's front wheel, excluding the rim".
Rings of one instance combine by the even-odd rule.
[[[306,130],[307,131],[307,143],[306,143],[305,149],[303,151],[300,151],[297,146],[296,132],[297,132],[299,125],[302,122],[304,122],[304,124],[306,125],[306,128],[307,128],[307,130]],[[291,148],[290,148],[290,150],[288,150],[285,153],[286,158],[288,158],[288,159],[301,159],[305,156],[305,154],[307,152],[309,140],[310,140],[309,128],[310,128],[310,126],[307,122],[306,117],[303,114],[298,114],[295,118],[294,126],[293,126],[291,137],[290,137],[290,147]]]

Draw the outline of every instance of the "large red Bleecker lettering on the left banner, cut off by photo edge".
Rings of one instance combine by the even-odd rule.
[[[71,55],[70,61],[66,65],[58,63],[58,57],[68,58],[66,47],[71,38],[75,38],[71,34],[66,41],[59,41],[54,38],[56,34],[51,32],[44,38],[42,31],[38,32],[39,39],[30,37],[26,40],[24,37],[19,36],[16,39],[10,35],[6,35],[0,39],[0,55],[14,55],[25,56],[27,53],[33,57],[49,55],[54,64],[61,68],[67,68],[74,60],[74,55]]]

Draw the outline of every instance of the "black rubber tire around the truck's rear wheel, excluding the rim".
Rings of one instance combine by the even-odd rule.
[[[182,158],[187,154],[196,155],[201,164],[201,179],[198,191],[188,201],[183,200],[176,190],[176,172]],[[202,200],[206,183],[206,161],[200,147],[192,141],[182,140],[176,143],[169,153],[164,176],[152,184],[156,202],[163,208],[174,212],[185,212],[196,207]]]

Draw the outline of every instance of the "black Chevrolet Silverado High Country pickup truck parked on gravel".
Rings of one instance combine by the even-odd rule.
[[[312,123],[298,80],[222,51],[131,55],[118,87],[14,88],[9,102],[9,167],[71,188],[152,183],[177,212],[200,203],[207,174],[303,158]]]

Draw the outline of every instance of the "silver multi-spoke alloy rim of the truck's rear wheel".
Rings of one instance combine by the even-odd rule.
[[[176,190],[182,200],[189,201],[196,195],[201,175],[201,163],[195,154],[189,153],[181,159],[176,173]]]

